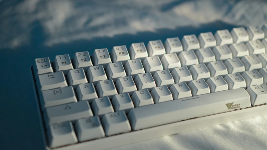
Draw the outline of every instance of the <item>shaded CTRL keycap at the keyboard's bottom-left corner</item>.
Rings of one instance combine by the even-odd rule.
[[[77,143],[73,126],[70,122],[50,125],[47,131],[49,148]]]

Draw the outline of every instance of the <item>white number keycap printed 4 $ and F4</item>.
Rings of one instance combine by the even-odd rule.
[[[128,60],[130,60],[130,56],[125,45],[114,46],[110,52],[110,58],[112,60],[112,63],[120,61],[123,66]]]

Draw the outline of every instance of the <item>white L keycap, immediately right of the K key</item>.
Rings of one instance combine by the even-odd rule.
[[[227,59],[224,62],[224,65],[228,70],[228,74],[241,73],[245,71],[245,66],[239,58]]]

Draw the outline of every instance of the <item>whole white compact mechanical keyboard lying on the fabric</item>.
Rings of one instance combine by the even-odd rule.
[[[266,37],[267,24],[36,58],[44,149],[101,150],[267,115]]]

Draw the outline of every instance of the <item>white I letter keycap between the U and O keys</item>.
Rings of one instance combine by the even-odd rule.
[[[216,61],[215,56],[210,47],[198,49],[196,51],[196,56],[198,58],[198,63],[205,63],[205,65],[208,65],[209,62]]]

